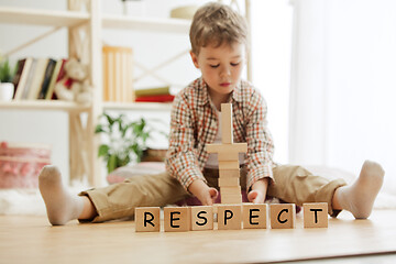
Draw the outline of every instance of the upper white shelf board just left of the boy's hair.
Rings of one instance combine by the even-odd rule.
[[[125,15],[105,14],[105,29],[155,31],[188,34],[191,21],[182,19],[133,18]]]

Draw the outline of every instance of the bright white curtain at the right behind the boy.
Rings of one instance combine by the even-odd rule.
[[[294,0],[289,162],[359,173],[396,193],[396,1]]]

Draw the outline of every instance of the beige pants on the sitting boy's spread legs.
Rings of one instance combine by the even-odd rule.
[[[343,179],[328,180],[315,176],[300,166],[280,165],[274,167],[274,182],[267,195],[286,202],[301,206],[304,202],[328,202],[329,215],[340,211],[332,209],[332,197],[337,188],[346,185]],[[204,172],[209,186],[217,187],[218,174]],[[241,184],[245,183],[245,170],[241,173]],[[242,188],[245,186],[242,186]],[[94,222],[132,217],[135,207],[163,207],[189,196],[177,179],[167,173],[133,176],[121,184],[90,189],[80,195],[88,196],[98,216]]]

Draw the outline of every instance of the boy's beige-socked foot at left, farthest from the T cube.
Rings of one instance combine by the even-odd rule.
[[[72,196],[62,184],[61,172],[55,166],[45,166],[38,175],[38,188],[43,196],[48,220],[53,226],[65,224],[82,212],[81,197]]]

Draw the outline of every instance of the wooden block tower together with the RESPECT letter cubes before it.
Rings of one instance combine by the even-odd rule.
[[[233,143],[232,105],[221,105],[222,144],[208,144],[208,153],[218,153],[219,187],[221,204],[198,207],[165,207],[164,231],[213,230],[217,213],[218,230],[296,228],[296,206],[294,204],[243,204],[240,186],[239,153],[248,152],[246,143]],[[227,204],[227,205],[224,205]],[[160,232],[160,207],[135,208],[136,232]],[[268,221],[268,215],[271,221]],[[327,228],[328,205],[304,204],[304,227]]]

